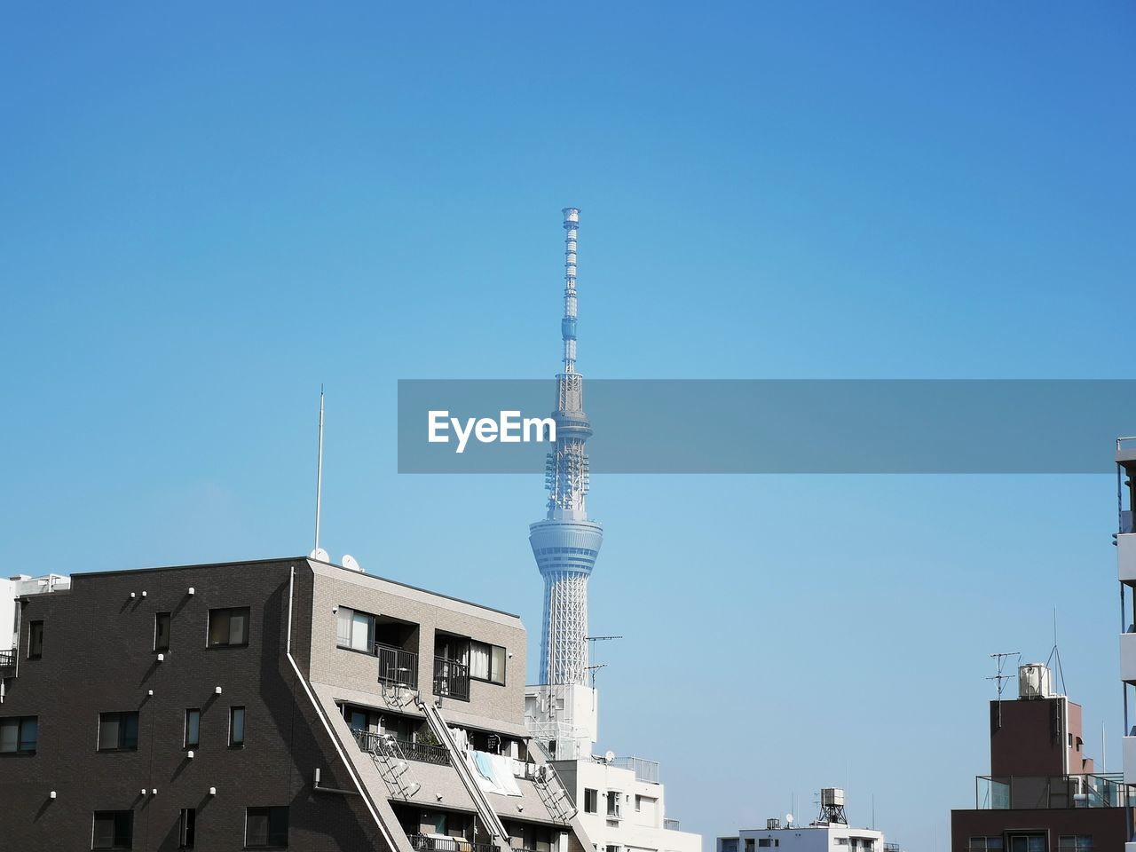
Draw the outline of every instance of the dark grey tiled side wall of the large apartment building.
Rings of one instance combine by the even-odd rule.
[[[197,849],[240,849],[247,807],[289,805],[292,850],[386,849],[360,796],[312,788],[317,767],[324,786],[349,788],[351,779],[285,657],[293,566],[293,641],[306,666],[306,560],[80,574],[70,592],[26,599],[19,674],[7,680],[0,718],[39,717],[39,744],[35,754],[0,754],[2,846],[90,849],[94,811],[133,810],[134,849],[174,850],[181,809],[195,808]],[[208,610],[245,605],[249,644],[207,648]],[[161,611],[173,615],[158,662]],[[37,660],[26,658],[32,620],[44,624]],[[242,747],[227,745],[233,705],[245,708]],[[190,708],[201,710],[192,760],[183,749]],[[99,712],[130,710],[139,711],[137,749],[97,751]]]

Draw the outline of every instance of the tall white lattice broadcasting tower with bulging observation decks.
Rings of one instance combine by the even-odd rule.
[[[584,414],[584,381],[576,371],[576,232],[579,210],[565,208],[563,371],[557,376],[557,445],[549,453],[544,483],[545,520],[529,526],[528,541],[544,577],[541,624],[541,677],[549,686],[584,686],[587,678],[587,578],[603,542],[603,529],[588,520],[587,452],[592,424]]]

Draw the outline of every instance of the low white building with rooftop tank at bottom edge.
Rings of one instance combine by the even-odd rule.
[[[766,820],[765,828],[743,828],[736,835],[719,837],[717,852],[757,852],[777,849],[783,852],[897,852],[884,833],[875,828],[850,826],[844,815],[844,791],[820,791],[820,816],[809,825],[795,825],[779,817]]]

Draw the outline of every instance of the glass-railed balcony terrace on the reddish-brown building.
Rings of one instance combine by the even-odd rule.
[[[1126,807],[1136,807],[1136,786],[1125,783],[1121,772],[975,778],[978,810]]]

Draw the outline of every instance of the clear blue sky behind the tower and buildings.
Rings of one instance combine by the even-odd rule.
[[[411,6],[6,8],[11,573],[306,552],[325,383],[333,557],[537,657],[541,473],[399,476],[395,382],[556,371],[567,204],[585,376],[1133,377],[1130,3]],[[708,844],[838,785],[945,850],[1055,607],[1119,768],[1114,500],[595,477],[600,747]]]

